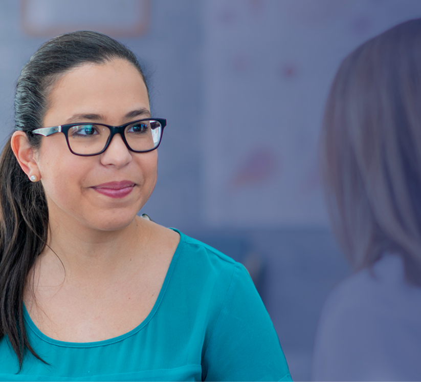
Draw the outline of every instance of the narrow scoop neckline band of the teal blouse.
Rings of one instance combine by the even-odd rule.
[[[72,348],[92,348],[97,346],[105,346],[114,344],[116,342],[123,341],[123,339],[128,338],[136,333],[138,333],[140,330],[142,330],[149,322],[152,320],[152,317],[157,312],[159,306],[161,305],[161,301],[164,298],[164,294],[167,290],[168,284],[170,282],[175,264],[179,258],[181,249],[185,243],[185,235],[180,232],[178,229],[170,228],[173,231],[177,232],[180,235],[180,241],[177,245],[177,248],[174,251],[174,254],[172,256],[170,265],[168,267],[167,273],[165,275],[164,282],[162,284],[161,290],[158,294],[157,301],[155,301],[155,304],[153,304],[153,307],[149,314],[146,316],[146,318],[134,329],[131,329],[127,333],[121,334],[117,337],[112,337],[108,339],[103,339],[102,341],[93,341],[93,342],[67,342],[67,341],[60,341],[59,339],[54,339],[49,337],[48,335],[42,333],[38,327],[35,325],[35,323],[32,321],[31,316],[28,313],[28,310],[26,309],[25,304],[23,305],[23,311],[24,311],[24,319],[28,327],[31,329],[32,333],[35,334],[37,337],[39,337],[42,341],[45,341],[49,344],[56,345],[56,346],[62,346],[62,347],[72,347]]]

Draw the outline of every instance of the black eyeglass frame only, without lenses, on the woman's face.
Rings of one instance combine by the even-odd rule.
[[[137,151],[137,150],[133,150],[129,146],[129,144],[127,143],[126,137],[124,136],[124,129],[128,125],[131,125],[131,124],[136,123],[136,122],[142,122],[142,121],[157,121],[157,122],[159,122],[161,124],[161,136],[160,136],[160,139],[159,139],[158,144],[155,147],[151,148],[150,150]],[[95,153],[95,154],[77,154],[70,147],[68,132],[74,126],[88,126],[88,125],[106,126],[110,130],[110,134],[109,134],[108,140],[105,143],[105,147],[100,152],[98,152],[98,153]],[[107,150],[109,144],[111,143],[111,141],[113,140],[113,137],[116,134],[120,134],[121,135],[121,138],[122,138],[124,144],[126,145],[127,149],[129,151],[134,152],[134,153],[148,153],[150,151],[157,150],[158,146],[161,144],[162,135],[164,134],[164,128],[165,128],[166,125],[167,125],[167,120],[164,119],[164,118],[143,118],[143,119],[137,119],[135,121],[130,121],[128,123],[124,123],[121,126],[111,126],[111,125],[107,125],[105,123],[93,123],[93,122],[79,122],[79,123],[77,123],[77,122],[75,122],[75,123],[68,123],[68,124],[63,124],[63,125],[58,125],[58,126],[52,126],[51,128],[35,129],[35,130],[32,130],[31,133],[32,134],[37,134],[37,135],[42,135],[44,137],[48,137],[48,136],[50,136],[52,134],[55,134],[55,133],[63,133],[64,136],[66,137],[67,145],[68,145],[69,150],[70,150],[70,152],[72,154],[78,155],[80,157],[93,157],[95,155],[100,155],[105,150]]]

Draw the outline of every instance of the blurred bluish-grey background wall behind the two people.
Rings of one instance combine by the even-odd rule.
[[[350,273],[321,192],[324,100],[347,53],[419,16],[418,0],[0,0],[0,141],[43,41],[91,29],[127,44],[152,116],[168,120],[142,213],[248,267],[294,380],[308,381],[323,301]]]

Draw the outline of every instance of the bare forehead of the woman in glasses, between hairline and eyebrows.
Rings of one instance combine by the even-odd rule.
[[[123,59],[86,63],[58,78],[48,94],[45,126],[71,122],[74,115],[96,114],[121,124],[133,110],[149,110],[145,82],[138,69]],[[78,121],[75,121],[78,122]]]

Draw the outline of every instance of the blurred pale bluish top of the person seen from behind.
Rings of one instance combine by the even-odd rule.
[[[383,259],[342,281],[320,316],[314,380],[365,380],[385,371],[390,376],[410,371],[403,349],[421,356],[420,307],[421,289],[406,284],[399,260]]]

